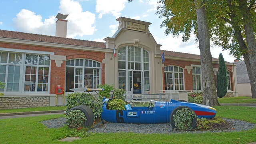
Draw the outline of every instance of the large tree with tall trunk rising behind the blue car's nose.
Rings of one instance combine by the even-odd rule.
[[[191,32],[197,36],[202,67],[203,104],[220,105],[214,82],[206,0],[160,0],[159,3],[162,6],[158,7],[157,14],[166,18],[161,25],[166,28],[166,34],[183,34],[185,42],[189,40]]]

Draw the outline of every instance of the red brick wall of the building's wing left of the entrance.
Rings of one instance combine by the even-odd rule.
[[[66,59],[72,58],[88,58],[102,62],[105,58],[104,52],[89,52],[84,50],[71,50],[64,48],[51,48],[43,46],[32,46],[32,45],[23,45],[23,44],[9,44],[1,43],[0,47],[2,48],[14,48],[21,50],[36,50],[44,52],[54,52],[55,55],[66,56]],[[50,74],[50,94],[55,94],[55,88],[58,84],[61,87],[65,88],[65,74],[66,74],[66,62],[63,61],[61,67],[56,67],[55,60],[51,60],[51,74]],[[102,84],[105,84],[105,64],[102,64]]]

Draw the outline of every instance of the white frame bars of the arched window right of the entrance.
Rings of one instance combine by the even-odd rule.
[[[178,73],[178,90],[180,90],[180,73],[182,73],[182,76],[183,76],[183,90],[185,90],[185,79],[184,79],[184,68],[182,68],[182,67],[180,67],[180,66],[176,66],[176,67],[178,67],[178,68],[182,68],[182,70],[183,70],[183,72],[174,72],[174,67],[175,67],[175,65],[169,65],[169,66],[172,66],[172,71],[165,71],[164,70],[164,75],[166,75],[166,73],[172,73],[172,88],[173,88],[173,91],[175,91],[176,90],[176,88],[175,88],[175,74],[174,73]],[[164,69],[166,68],[166,67],[168,67],[168,66],[165,66],[164,67]],[[165,80],[165,82],[164,82],[165,84],[166,84],[166,86],[167,86],[167,75],[166,75],[166,80]]]

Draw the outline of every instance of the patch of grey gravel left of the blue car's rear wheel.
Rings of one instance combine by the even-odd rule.
[[[66,124],[66,119],[65,118],[55,118],[55,119],[50,119],[50,120],[44,120],[40,123],[47,126],[47,128],[60,128],[60,127],[63,127],[64,124]]]

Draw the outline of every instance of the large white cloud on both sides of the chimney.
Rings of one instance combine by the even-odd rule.
[[[60,0],[59,11],[62,14],[69,14],[67,37],[92,35],[96,30],[95,14],[83,12],[79,2],[73,0]],[[42,21],[42,16],[30,10],[22,9],[13,19],[14,27],[17,31],[29,32],[35,34],[46,34],[55,36],[56,26],[55,16],[49,16]]]

